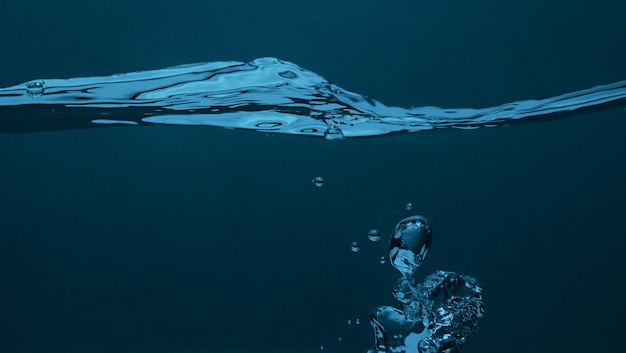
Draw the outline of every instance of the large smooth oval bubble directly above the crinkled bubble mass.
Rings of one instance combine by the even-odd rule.
[[[412,276],[424,262],[431,240],[432,232],[425,217],[412,216],[401,220],[391,237],[391,264],[404,276]]]

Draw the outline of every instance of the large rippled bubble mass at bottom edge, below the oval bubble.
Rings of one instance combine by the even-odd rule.
[[[375,346],[369,352],[459,352],[485,312],[476,279],[437,271],[420,284],[406,277],[400,282],[394,294],[402,310],[382,306],[372,313]]]

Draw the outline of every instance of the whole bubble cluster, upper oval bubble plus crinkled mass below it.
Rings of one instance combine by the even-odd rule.
[[[402,273],[392,291],[400,308],[381,306],[372,313],[375,343],[368,353],[458,352],[478,329],[485,308],[475,278],[436,271],[422,283],[416,281],[415,270],[431,240],[430,224],[422,216],[396,225],[389,258]]]

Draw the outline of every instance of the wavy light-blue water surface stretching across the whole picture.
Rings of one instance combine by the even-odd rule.
[[[624,104],[626,81],[490,108],[389,107],[295,64],[193,64],[108,77],[45,79],[0,89],[0,132],[110,125],[207,125],[297,135],[375,136],[477,128]]]

